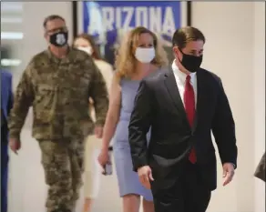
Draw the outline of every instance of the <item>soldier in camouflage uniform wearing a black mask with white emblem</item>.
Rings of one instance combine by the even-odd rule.
[[[84,138],[101,136],[107,114],[107,88],[91,57],[67,45],[67,26],[58,15],[46,18],[49,48],[30,61],[16,88],[9,143],[20,148],[20,132],[33,106],[33,136],[39,143],[46,184],[47,212],[71,212],[78,199],[83,170]],[[97,126],[88,116],[88,99],[97,113]]]

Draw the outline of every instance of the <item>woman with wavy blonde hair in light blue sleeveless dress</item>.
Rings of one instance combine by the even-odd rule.
[[[151,191],[140,184],[137,173],[133,171],[128,142],[128,124],[141,79],[166,66],[167,56],[159,45],[156,35],[145,27],[139,26],[133,29],[125,38],[116,58],[116,74],[111,86],[103,145],[98,161],[103,167],[109,161],[108,146],[113,137],[123,211],[138,212],[140,197],[143,197],[143,211],[153,212]],[[149,134],[147,136],[149,137]]]

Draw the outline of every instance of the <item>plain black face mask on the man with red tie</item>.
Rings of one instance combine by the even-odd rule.
[[[182,61],[180,61],[181,65],[184,66],[191,73],[197,72],[202,63],[203,56],[190,56],[184,53],[182,53],[182,55],[183,58]]]

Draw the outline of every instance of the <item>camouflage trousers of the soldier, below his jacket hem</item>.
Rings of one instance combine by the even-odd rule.
[[[84,171],[84,139],[39,141],[48,194],[47,212],[76,207]]]

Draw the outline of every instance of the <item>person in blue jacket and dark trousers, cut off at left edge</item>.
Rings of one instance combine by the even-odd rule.
[[[12,75],[1,70],[1,212],[7,212],[8,128],[7,116],[13,105]]]

